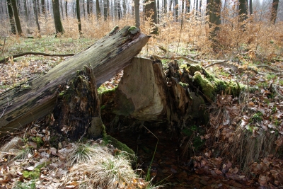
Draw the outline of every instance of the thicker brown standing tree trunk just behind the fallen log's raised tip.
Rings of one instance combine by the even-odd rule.
[[[145,6],[144,6],[144,12],[146,18],[149,18],[151,20],[153,30],[152,34],[157,34],[158,33],[158,28],[157,28],[157,10],[156,10],[156,1],[155,0],[145,0],[144,1]]]

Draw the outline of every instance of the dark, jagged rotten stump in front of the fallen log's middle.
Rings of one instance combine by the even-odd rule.
[[[59,90],[53,110],[54,122],[50,124],[57,130],[56,134],[60,133],[58,137],[67,137],[72,141],[81,137],[101,137],[105,130],[93,69],[85,67]]]

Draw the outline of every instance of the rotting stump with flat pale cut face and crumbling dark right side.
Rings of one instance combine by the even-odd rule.
[[[165,75],[161,62],[134,58],[124,69],[115,92],[102,94],[103,105],[111,107],[105,111],[141,122],[163,122],[168,129],[172,124],[181,125],[180,120],[201,118],[204,115],[204,110],[200,110],[203,98],[190,93],[176,81],[174,76],[175,72],[179,73],[178,67],[174,69],[171,65],[170,70],[171,73]],[[114,105],[111,106],[112,102]]]

